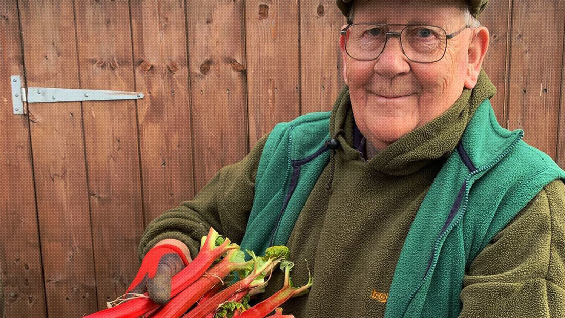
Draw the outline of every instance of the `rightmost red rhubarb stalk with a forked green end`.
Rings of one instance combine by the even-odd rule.
[[[248,310],[234,315],[233,318],[263,318],[271,313],[275,308],[279,307],[282,303],[286,302],[290,297],[297,296],[302,293],[306,293],[308,288],[312,286],[312,277],[308,277],[308,284],[302,287],[293,287],[290,284],[290,268],[292,268],[292,263],[288,263],[284,267],[284,286],[282,289],[277,291],[271,297],[263,300],[262,302],[256,304],[255,306],[249,308]]]

